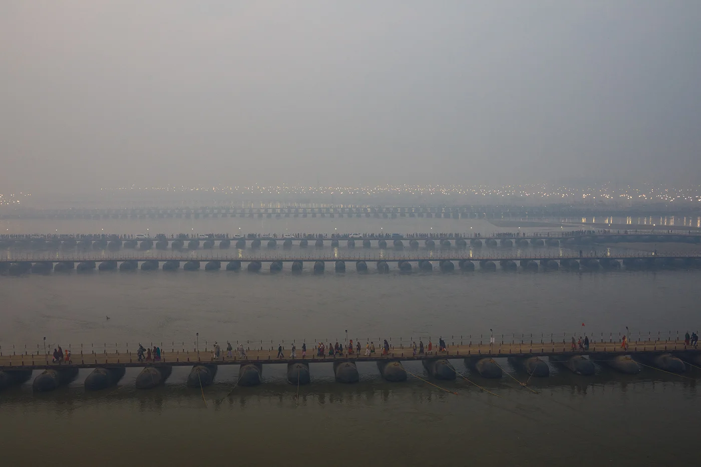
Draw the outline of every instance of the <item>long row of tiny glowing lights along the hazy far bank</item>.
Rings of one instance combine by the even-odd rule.
[[[447,187],[433,187],[428,185],[428,187],[417,187],[402,185],[399,187],[394,187],[387,185],[384,187],[288,187],[288,186],[278,186],[278,187],[121,187],[116,189],[116,191],[121,190],[152,190],[152,191],[212,191],[221,192],[222,194],[421,194],[421,195],[433,195],[433,194],[444,194],[444,195],[482,195],[482,196],[533,196],[541,198],[566,198],[566,197],[578,197],[582,198],[592,198],[597,197],[604,199],[614,198],[627,198],[632,200],[634,198],[644,198],[649,199],[661,199],[665,201],[701,201],[701,194],[699,194],[699,189],[655,189],[650,188],[643,193],[641,189],[634,189],[627,187],[622,190],[622,193],[616,194],[615,192],[620,192],[620,189],[610,189],[604,187],[601,189],[587,188],[586,190],[571,189],[566,187],[559,187],[554,189],[552,192],[544,191],[542,185],[519,185],[518,187],[461,187],[455,185],[449,185]],[[107,191],[114,191],[109,190]],[[657,193],[655,193],[657,191]]]

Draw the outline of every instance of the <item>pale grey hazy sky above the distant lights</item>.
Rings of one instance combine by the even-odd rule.
[[[0,193],[696,182],[701,1],[0,2]]]

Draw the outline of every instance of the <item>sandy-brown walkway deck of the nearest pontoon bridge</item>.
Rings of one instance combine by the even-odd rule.
[[[379,343],[378,343],[379,344]],[[277,347],[250,349],[247,350],[245,358],[239,358],[236,351],[233,352],[234,357],[226,357],[226,350],[222,347],[222,357],[219,360],[214,360],[212,349],[197,351],[189,351],[184,349],[172,348],[170,351],[165,351],[161,355],[160,362],[140,362],[137,360],[135,351],[111,352],[111,353],[87,353],[74,351],[72,353],[72,363],[62,363],[61,367],[72,366],[79,368],[95,368],[101,366],[121,366],[121,367],[144,367],[147,365],[173,365],[173,366],[191,366],[196,363],[208,363],[214,365],[240,365],[241,363],[332,363],[339,360],[351,360],[358,362],[375,362],[378,360],[426,360],[431,358],[465,358],[465,357],[509,357],[509,356],[571,356],[571,355],[589,355],[592,356],[598,353],[615,354],[641,354],[641,353],[662,353],[665,351],[692,351],[701,352],[685,346],[683,341],[637,341],[631,342],[627,350],[621,347],[620,342],[597,342],[591,343],[589,351],[572,351],[571,343],[563,344],[562,342],[540,342],[530,341],[519,343],[496,343],[492,346],[489,344],[462,344],[450,346],[447,352],[437,352],[437,348],[433,348],[432,353],[413,356],[411,348],[390,348],[388,356],[380,354],[381,348],[376,344],[376,353],[371,356],[365,356],[365,344],[361,344],[360,356],[357,353],[352,353],[348,356],[344,353],[343,356],[325,356],[323,358],[316,356],[316,350],[313,343],[307,346],[306,358],[301,357],[301,344],[297,346],[297,358],[290,358],[290,344],[287,344],[283,350],[285,358],[276,358]],[[417,344],[418,345],[418,344]],[[58,364],[51,363],[52,356],[43,356],[38,352],[25,353],[16,355],[0,356],[0,370],[13,369],[43,369],[47,367],[57,367]]]

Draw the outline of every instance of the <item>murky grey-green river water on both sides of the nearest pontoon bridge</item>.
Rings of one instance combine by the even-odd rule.
[[[443,231],[470,226],[445,221],[461,224]],[[422,227],[407,231],[427,230]],[[327,268],[323,275],[0,276],[0,345],[4,353],[25,345],[36,351],[46,337],[52,350],[61,344],[74,355],[81,344],[84,350],[116,345],[133,351],[139,341],[166,349],[191,349],[197,340],[201,348],[215,340],[288,346],[292,340],[343,341],[346,330],[361,342],[442,336],[450,344],[492,333],[498,340],[540,341],[543,334],[549,341],[550,334],[573,333],[615,340],[626,326],[634,339],[674,338],[701,327],[700,279],[698,271],[379,274],[370,268],[359,274],[352,267],[344,274]],[[405,367],[426,377],[421,365]],[[507,375],[488,381],[465,370],[501,397],[463,379],[431,381],[448,391],[414,377],[386,383],[370,363],[359,365],[361,382],[353,386],[336,384],[331,365],[313,364],[312,383],[299,393],[286,383],[281,365],[265,365],[263,384],[255,388],[234,388],[237,369],[224,367],[203,392],[186,388],[189,369],[177,367],[154,391],[136,391],[137,370],[131,369],[116,388],[86,393],[85,370],[53,393],[32,393],[31,380],[0,393],[1,455],[4,465],[16,466],[669,466],[695,456],[701,370],[679,377],[646,368],[625,377],[599,368],[594,377],[578,377],[551,367],[550,378],[530,382],[538,394]]]

